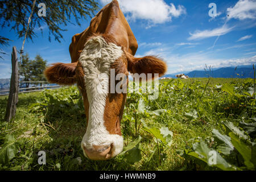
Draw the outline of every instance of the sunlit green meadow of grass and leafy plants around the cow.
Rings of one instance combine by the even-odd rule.
[[[254,92],[251,78],[189,78],[161,80],[156,100],[128,93],[125,148],[107,161],[82,154],[86,116],[76,86],[19,94],[10,123],[2,96],[0,170],[255,170]]]

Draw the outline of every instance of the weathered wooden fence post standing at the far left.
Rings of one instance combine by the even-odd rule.
[[[5,115],[5,119],[7,122],[14,120],[16,113],[16,105],[18,104],[18,57],[15,46],[13,47],[13,52],[11,53],[11,67],[12,72],[10,91]]]

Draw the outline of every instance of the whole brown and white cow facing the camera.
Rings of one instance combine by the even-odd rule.
[[[52,64],[44,71],[49,82],[76,84],[82,95],[86,131],[81,148],[86,158],[108,160],[123,150],[121,119],[126,93],[110,93],[110,69],[123,73],[167,71],[166,63],[156,56],[134,57],[137,40],[117,0],[103,7],[81,34],[72,37],[71,63]],[[127,79],[128,84],[129,79]]]

